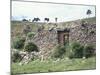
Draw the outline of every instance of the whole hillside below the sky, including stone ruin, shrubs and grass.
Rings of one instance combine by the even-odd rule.
[[[12,74],[96,68],[95,17],[60,23],[12,21],[11,32],[12,58],[17,59]]]

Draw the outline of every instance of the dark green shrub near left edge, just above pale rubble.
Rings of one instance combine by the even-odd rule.
[[[13,47],[15,49],[22,49],[24,47],[25,38],[16,38],[13,42]]]

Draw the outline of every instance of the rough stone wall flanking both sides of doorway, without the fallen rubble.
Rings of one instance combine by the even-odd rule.
[[[68,33],[68,32],[67,32]],[[34,38],[29,39],[34,42],[39,48],[39,57],[45,57],[47,59],[53,52],[54,47],[58,45],[58,33],[57,29],[53,30],[41,30],[37,32]],[[69,31],[69,43],[79,42],[85,44],[96,44],[96,25],[89,24],[85,27],[82,25],[70,28]]]

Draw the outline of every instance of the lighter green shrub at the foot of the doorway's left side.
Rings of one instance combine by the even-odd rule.
[[[62,58],[65,52],[66,52],[66,49],[64,46],[57,46],[52,56],[54,58]]]

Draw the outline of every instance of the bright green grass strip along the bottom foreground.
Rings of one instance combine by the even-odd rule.
[[[12,73],[38,73],[38,72],[57,72],[68,70],[85,70],[95,69],[96,61],[95,57],[88,59],[61,59],[59,62],[40,62],[39,60],[32,61],[26,65],[18,65],[18,63],[12,64]]]

